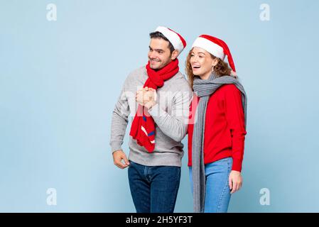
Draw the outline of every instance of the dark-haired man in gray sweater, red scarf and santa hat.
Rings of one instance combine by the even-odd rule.
[[[114,165],[129,167],[136,212],[172,213],[192,90],[178,68],[183,37],[160,26],[150,38],[148,64],[129,74],[114,108],[110,145]],[[128,160],[121,144],[130,114]]]

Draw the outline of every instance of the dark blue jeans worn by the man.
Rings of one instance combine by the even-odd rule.
[[[173,213],[180,186],[180,167],[129,162],[129,188],[136,212]]]

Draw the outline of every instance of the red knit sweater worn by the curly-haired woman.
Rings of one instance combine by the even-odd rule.
[[[195,110],[199,98],[194,95],[188,125],[188,166],[192,165],[192,138]],[[193,108],[192,108],[193,106]],[[207,103],[204,138],[204,163],[232,157],[232,170],[242,171],[244,157],[244,111],[242,94],[234,84],[222,85]]]

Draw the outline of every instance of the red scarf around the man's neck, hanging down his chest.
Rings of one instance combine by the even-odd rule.
[[[148,79],[144,84],[144,87],[151,87],[153,89],[157,89],[158,87],[162,87],[164,85],[164,81],[173,77],[176,73],[178,73],[178,59],[171,61],[165,67],[161,68],[161,70],[152,70],[149,66],[149,62],[146,65],[146,71],[148,74]],[[152,152],[155,148],[155,122],[153,118],[148,114],[148,111],[144,106],[139,104],[134,120],[131,125],[131,131],[129,133],[136,143],[143,146],[148,150],[148,152]]]

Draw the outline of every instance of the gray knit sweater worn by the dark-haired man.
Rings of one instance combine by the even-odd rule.
[[[136,114],[136,92],[148,79],[145,67],[131,72],[124,82],[112,115],[112,152],[122,150],[126,126]],[[129,160],[141,165],[181,166],[183,143],[188,127],[188,113],[193,92],[183,74],[178,72],[157,89],[157,104],[148,113],[156,123],[155,149],[152,153],[129,136]],[[125,151],[124,151],[125,152]]]

